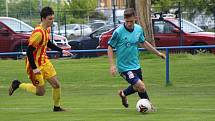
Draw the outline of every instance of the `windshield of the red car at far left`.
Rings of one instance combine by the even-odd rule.
[[[33,27],[27,25],[26,23],[15,20],[15,19],[0,19],[1,22],[6,24],[8,27],[10,27],[15,32],[32,32]]]

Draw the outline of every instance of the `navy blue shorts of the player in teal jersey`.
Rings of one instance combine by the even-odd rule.
[[[125,71],[120,73],[120,75],[131,85],[136,84],[139,79],[142,80],[141,69]]]

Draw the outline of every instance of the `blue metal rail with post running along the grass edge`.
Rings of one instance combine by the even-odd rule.
[[[196,48],[215,48],[215,45],[207,45],[207,46],[171,46],[171,47],[156,47],[158,50],[166,51],[166,85],[170,85],[170,66],[169,66],[169,50],[171,49],[196,49]],[[139,48],[140,51],[145,51],[145,48]],[[107,49],[94,49],[94,50],[70,50],[72,53],[95,53],[95,52],[107,52]],[[48,51],[49,54],[59,53],[57,51]],[[0,56],[8,56],[8,55],[26,55],[26,52],[5,52],[0,53]]]

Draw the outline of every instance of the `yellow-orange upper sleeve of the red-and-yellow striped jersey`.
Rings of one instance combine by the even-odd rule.
[[[29,46],[35,47],[37,48],[40,43],[42,42],[42,33],[41,32],[33,32],[31,34],[31,37],[29,38],[28,42],[29,42]]]

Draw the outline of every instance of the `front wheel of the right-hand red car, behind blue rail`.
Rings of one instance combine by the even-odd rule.
[[[204,43],[196,43],[194,44],[194,46],[203,46],[203,45],[207,45]],[[191,50],[191,54],[195,55],[195,54],[202,54],[202,53],[211,53],[211,50],[208,48],[194,48]]]

